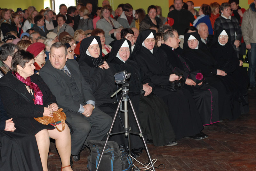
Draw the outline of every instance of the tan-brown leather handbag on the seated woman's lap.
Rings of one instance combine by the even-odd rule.
[[[66,120],[66,114],[64,112],[62,112],[62,108],[59,108],[56,112],[53,112],[53,117],[49,117],[49,116],[43,116],[43,117],[38,117],[38,118],[34,118],[36,119],[37,122],[40,122],[44,125],[48,125],[50,123],[55,123],[61,121],[61,125],[62,125],[62,130],[59,130],[56,126],[56,129],[59,132],[62,132],[65,129],[65,120]]]

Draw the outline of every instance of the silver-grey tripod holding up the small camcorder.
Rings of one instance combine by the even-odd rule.
[[[132,105],[132,100],[130,99],[130,97],[129,97],[129,95],[128,95],[129,84],[128,84],[128,83],[124,83],[124,84],[122,85],[122,88],[120,88],[116,93],[118,93],[120,90],[122,90],[121,99],[119,100],[118,107],[117,107],[117,109],[116,109],[116,113],[115,113],[115,116],[114,116],[114,118],[113,118],[113,122],[112,122],[112,124],[111,124],[111,127],[110,127],[108,133],[107,133],[107,140],[106,140],[105,145],[104,145],[104,148],[103,148],[103,150],[102,150],[102,153],[101,153],[101,156],[100,156],[100,160],[99,160],[99,164],[98,164],[98,166],[97,166],[97,168],[96,168],[96,171],[99,170],[100,162],[101,162],[101,160],[102,160],[102,157],[103,157],[103,154],[104,154],[104,151],[105,151],[105,148],[106,148],[106,145],[107,145],[107,142],[108,142],[109,137],[110,137],[111,135],[120,134],[120,133],[124,133],[124,136],[125,136],[125,137],[128,137],[128,145],[129,145],[129,154],[130,154],[130,155],[131,155],[130,139],[129,139],[129,138],[130,138],[130,136],[129,136],[130,133],[139,135],[139,136],[142,138],[142,141],[143,141],[144,146],[145,146],[145,148],[146,148],[146,152],[147,152],[147,154],[148,154],[149,162],[150,162],[150,164],[151,164],[151,166],[152,166],[152,170],[155,171],[155,168],[154,168],[154,165],[153,165],[151,156],[150,156],[149,151],[148,151],[148,146],[147,146],[145,137],[144,137],[144,135],[143,135],[143,133],[142,133],[142,130],[141,130],[141,127],[140,127],[140,123],[139,123],[139,121],[138,121],[137,115],[136,115],[135,110],[134,110],[133,105]],[[115,94],[116,94],[116,93],[115,93]],[[115,95],[115,94],[113,94],[113,95]],[[112,96],[113,96],[113,95],[112,95]],[[128,103],[128,100],[129,100],[130,106],[131,106],[131,108],[132,108],[132,113],[133,113],[133,115],[134,115],[134,118],[135,118],[135,120],[136,120],[136,123],[137,123],[137,126],[138,126],[138,128],[139,128],[140,133],[138,133],[138,132],[131,132],[131,131],[129,130],[128,106],[127,106],[127,105],[128,105],[128,104],[127,104],[127,103]],[[120,108],[120,106],[121,106],[121,104],[122,104],[122,101],[124,101],[124,110],[122,110],[122,109]],[[115,121],[116,121],[116,116],[117,116],[117,114],[118,114],[119,109],[124,112],[124,131],[122,131],[122,132],[116,132],[116,133],[111,133],[111,131],[112,131],[112,129],[113,129],[113,126],[114,126],[114,123],[115,123]]]

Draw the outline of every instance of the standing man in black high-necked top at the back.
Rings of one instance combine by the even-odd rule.
[[[175,9],[168,13],[168,17],[174,20],[172,28],[177,30],[179,35],[183,35],[195,18],[190,11],[182,9],[183,0],[174,0],[173,4]]]

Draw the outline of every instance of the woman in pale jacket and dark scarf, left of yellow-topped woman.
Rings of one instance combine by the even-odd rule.
[[[124,4],[123,12],[118,17],[117,21],[124,27],[124,28],[131,28],[135,27],[135,20],[132,15],[132,5],[131,4]]]

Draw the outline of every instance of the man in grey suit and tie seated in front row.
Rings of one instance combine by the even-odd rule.
[[[40,76],[56,96],[67,122],[72,126],[71,154],[79,160],[80,150],[88,140],[102,140],[112,118],[95,107],[90,85],[84,80],[75,60],[68,60],[67,48],[56,42],[51,46],[49,60],[40,70]]]

